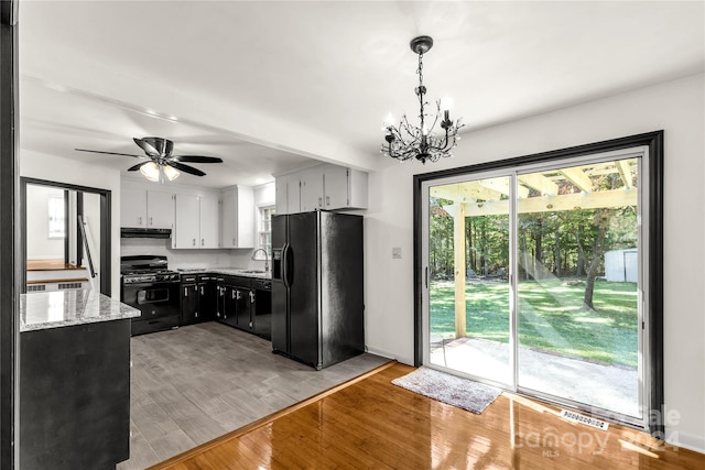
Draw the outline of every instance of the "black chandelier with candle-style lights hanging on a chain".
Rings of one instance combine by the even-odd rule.
[[[460,119],[457,119],[455,123],[451,120],[448,100],[443,102],[438,100],[436,101],[436,114],[433,118],[433,122],[430,127],[427,125],[430,116],[426,114],[424,109],[429,103],[424,101],[426,87],[423,85],[423,55],[433,46],[433,39],[430,36],[414,37],[411,40],[410,46],[415,54],[419,54],[419,68],[416,69],[419,86],[414,91],[419,97],[421,107],[419,112],[421,123],[419,127],[412,125],[409,123],[406,114],[403,114],[399,125],[394,127],[393,118],[389,116],[384,122],[384,140],[387,143],[382,144],[380,152],[386,156],[391,156],[402,162],[409,159],[420,160],[421,163],[426,163],[426,160],[437,162],[442,156],[452,156],[451,151],[457,145],[456,142],[460,140],[457,133],[465,124],[460,123]],[[437,123],[441,124],[441,129],[444,132],[434,134],[433,130]]]

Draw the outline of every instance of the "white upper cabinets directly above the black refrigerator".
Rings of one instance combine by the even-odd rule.
[[[323,164],[276,177],[276,214],[367,209],[367,173],[358,170]]]

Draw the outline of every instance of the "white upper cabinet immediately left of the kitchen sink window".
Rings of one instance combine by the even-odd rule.
[[[254,193],[252,188],[234,186],[221,193],[220,245],[223,248],[254,247]]]

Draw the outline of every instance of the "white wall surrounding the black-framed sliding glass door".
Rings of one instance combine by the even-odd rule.
[[[704,84],[705,76],[692,76],[469,132],[453,159],[425,166],[389,161],[370,174],[365,253],[369,350],[413,362],[414,174],[664,130],[665,403],[680,413],[666,431],[671,441],[705,451]],[[392,260],[392,247],[402,249],[401,260]]]

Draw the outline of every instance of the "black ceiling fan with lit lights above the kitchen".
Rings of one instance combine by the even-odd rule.
[[[203,155],[172,155],[174,149],[174,142],[164,138],[143,138],[132,139],[135,144],[144,151],[147,155],[134,155],[130,153],[118,152],[104,152],[99,150],[88,149],[75,149],[79,152],[93,152],[102,153],[106,155],[124,155],[133,156],[135,159],[149,159],[147,162],[138,163],[130,166],[128,172],[137,172],[144,175],[144,177],[151,182],[160,181],[164,175],[169,181],[173,181],[181,174],[180,171],[188,173],[195,176],[205,176],[205,173],[198,168],[194,168],[185,163],[223,163],[223,159],[217,156],[203,156]],[[162,179],[163,181],[163,179]]]

